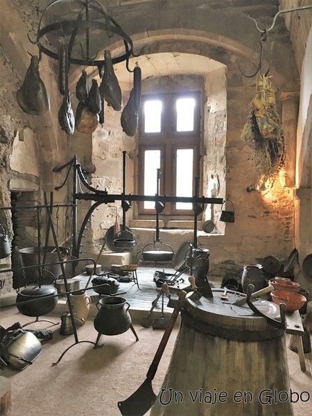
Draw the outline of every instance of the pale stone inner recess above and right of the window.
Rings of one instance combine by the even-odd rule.
[[[220,62],[189,53],[159,53],[144,58],[150,60],[147,72],[144,73],[143,94],[169,90],[201,92],[200,193],[207,197],[223,198],[226,185],[227,67]],[[148,72],[152,69],[154,74],[162,73],[162,76],[153,76],[153,72]],[[137,178],[137,175],[134,177]],[[135,183],[134,189],[137,193]],[[205,207],[202,220],[217,219],[219,208]],[[167,226],[177,227],[177,224],[171,220]]]

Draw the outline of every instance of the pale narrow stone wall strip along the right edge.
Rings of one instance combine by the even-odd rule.
[[[297,7],[293,0],[281,0],[281,9]],[[311,1],[300,1],[300,6],[311,6]],[[290,33],[295,55],[295,62],[301,73],[300,105],[297,123],[297,146],[295,151],[295,245],[299,252],[300,264],[311,254],[311,201],[312,201],[312,8],[298,10],[284,15],[285,24]],[[288,114],[290,114],[288,112]],[[293,132],[295,137],[295,132]],[[293,179],[293,177],[292,177]],[[312,291],[311,279],[298,271],[297,279],[302,286]]]

